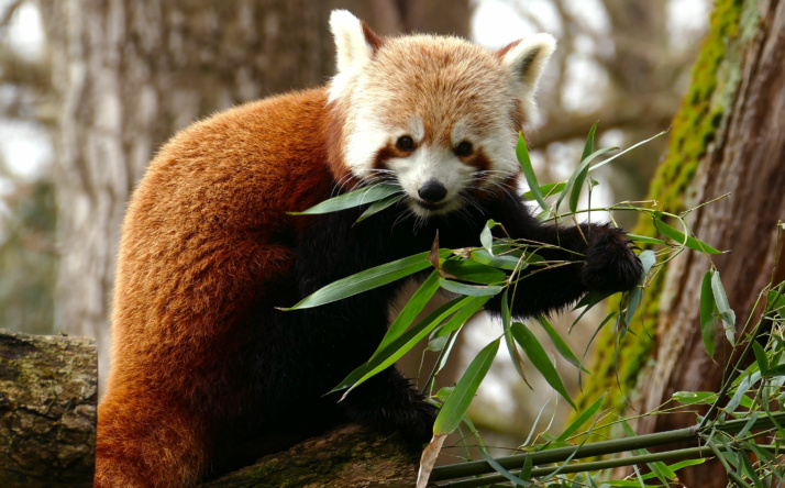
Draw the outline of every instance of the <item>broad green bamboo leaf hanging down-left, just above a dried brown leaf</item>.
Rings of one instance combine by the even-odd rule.
[[[499,339],[483,347],[483,351],[472,361],[440,409],[433,423],[433,435],[449,434],[457,429],[498,350]]]

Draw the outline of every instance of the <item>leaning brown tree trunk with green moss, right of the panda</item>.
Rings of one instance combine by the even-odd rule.
[[[693,73],[693,86],[676,115],[668,155],[657,169],[650,198],[668,211],[729,197],[690,214],[705,242],[731,252],[711,256],[689,252],[657,277],[645,306],[644,326],[653,342],[638,334],[619,346],[619,378],[634,398],[635,414],[652,411],[676,391],[717,391],[731,350],[719,334],[715,362],[700,335],[699,297],[704,274],[714,264],[743,328],[759,292],[774,274],[785,243],[776,225],[785,220],[785,1],[717,0],[710,33]],[[651,221],[635,233],[654,235]],[[782,263],[782,259],[781,262]],[[740,334],[737,334],[740,336]],[[626,347],[627,344],[634,345]],[[609,351],[612,339],[600,350]],[[600,351],[600,375],[585,398],[616,384],[613,354]],[[601,385],[600,385],[601,384]],[[617,395],[615,407],[623,410]],[[695,413],[640,419],[639,434],[694,424]],[[722,468],[712,463],[679,474],[686,486],[725,487]]]

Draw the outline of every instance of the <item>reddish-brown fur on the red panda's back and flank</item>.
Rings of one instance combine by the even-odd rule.
[[[292,265],[286,212],[330,190],[325,106],[323,89],[242,106],[151,163],[120,247],[96,486],[180,486],[208,469],[211,423],[243,408],[220,382],[237,367],[235,318]]]

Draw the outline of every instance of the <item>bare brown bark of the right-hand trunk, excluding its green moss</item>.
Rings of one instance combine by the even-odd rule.
[[[730,2],[719,1],[716,8],[722,3]],[[709,42],[704,47],[716,51],[727,46],[715,97],[721,96],[723,85],[731,90],[727,104],[715,106],[718,130],[714,136],[693,141],[703,144],[705,152],[688,200],[699,203],[732,193],[695,212],[692,225],[701,240],[732,249],[711,259],[741,329],[772,276],[775,284],[785,278],[782,259],[773,270],[775,252],[782,256],[785,251],[785,242],[776,248],[776,224],[785,220],[785,2],[744,2],[732,27],[725,38],[714,41],[723,44]],[[683,111],[687,110],[689,100]],[[676,391],[717,391],[720,387],[722,369],[731,361],[730,347],[723,334],[718,334],[714,363],[700,335],[700,284],[709,265],[704,255],[688,253],[667,270],[657,319],[656,359],[643,374],[651,379],[635,402],[639,412],[653,410]],[[646,417],[639,421],[637,432],[693,423],[694,413]],[[721,472],[718,465],[707,463],[679,478],[686,486],[725,487],[727,479],[717,476]]]

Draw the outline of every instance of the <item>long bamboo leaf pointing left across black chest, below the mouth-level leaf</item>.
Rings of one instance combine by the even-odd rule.
[[[450,254],[449,251],[441,252],[443,256]],[[280,310],[299,310],[319,307],[324,303],[343,300],[363,291],[388,285],[400,278],[413,275],[428,268],[431,263],[428,260],[428,252],[414,254],[413,256],[403,257],[391,263],[383,264],[346,278],[333,281],[330,285],[318,289],[313,293],[300,300],[297,304],[290,308],[281,308]]]

